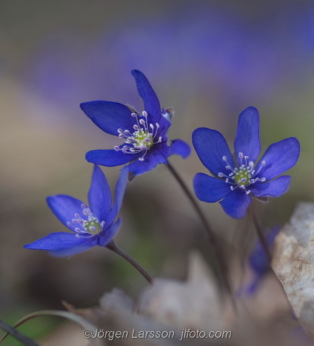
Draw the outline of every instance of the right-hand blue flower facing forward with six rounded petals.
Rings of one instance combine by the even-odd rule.
[[[226,214],[235,219],[246,215],[252,197],[279,197],[291,182],[291,176],[279,176],[297,163],[300,143],[291,137],[268,147],[257,162],[259,113],[248,107],[239,116],[235,136],[235,161],[224,136],[201,127],[193,132],[193,145],[203,165],[215,175],[196,174],[194,190],[198,199],[219,203]],[[277,176],[279,176],[277,178]]]

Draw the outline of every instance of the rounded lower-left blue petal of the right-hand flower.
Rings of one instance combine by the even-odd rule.
[[[201,201],[214,203],[230,194],[230,184],[204,173],[197,173],[193,180],[194,191]]]

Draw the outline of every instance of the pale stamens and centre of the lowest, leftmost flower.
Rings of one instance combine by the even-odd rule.
[[[68,226],[72,226],[72,224],[77,224],[80,227],[75,228],[75,232],[77,232],[77,237],[81,235],[97,235],[101,232],[105,221],[99,223],[99,220],[92,213],[90,208],[87,208],[85,204],[81,204],[82,212],[84,215],[88,217],[88,219],[82,219],[79,214],[75,214],[75,218],[72,219],[72,223],[69,221]]]

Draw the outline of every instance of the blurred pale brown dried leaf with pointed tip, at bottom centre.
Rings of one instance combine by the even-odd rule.
[[[199,253],[192,253],[187,282],[157,279],[141,295],[139,313],[178,328],[226,329],[215,277]]]

